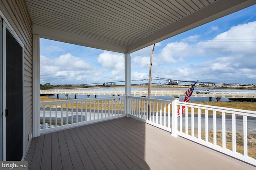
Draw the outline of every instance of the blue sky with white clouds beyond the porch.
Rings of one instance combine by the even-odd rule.
[[[150,46],[130,54],[131,84],[148,83]],[[156,77],[256,83],[256,5],[155,44]],[[135,81],[144,80],[144,81]],[[124,54],[40,39],[40,83],[124,84]]]

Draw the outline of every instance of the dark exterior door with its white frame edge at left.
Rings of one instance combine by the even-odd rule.
[[[2,28],[3,160],[23,157],[23,47],[8,27]]]

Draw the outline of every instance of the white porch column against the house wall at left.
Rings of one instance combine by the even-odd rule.
[[[40,36],[33,34],[33,137],[40,135]]]

